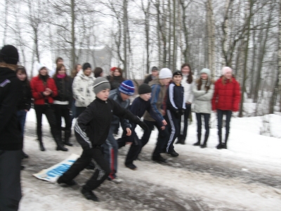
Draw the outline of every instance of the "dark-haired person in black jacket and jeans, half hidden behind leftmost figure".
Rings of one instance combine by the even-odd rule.
[[[25,118],[27,115],[27,112],[31,108],[31,102],[32,102],[32,93],[30,89],[30,81],[27,79],[27,72],[25,70],[25,67],[18,66],[17,70],[15,70],[15,74],[17,75],[18,79],[22,82],[22,98],[20,98],[20,101],[18,102],[18,121],[20,122],[20,129],[22,140],[24,139],[25,134]],[[22,151],[22,158],[28,158],[28,155],[25,154],[24,151]]]

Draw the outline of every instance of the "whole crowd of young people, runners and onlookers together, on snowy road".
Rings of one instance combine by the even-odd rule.
[[[74,177],[81,170],[94,169],[93,176],[81,189],[89,200],[98,201],[93,190],[105,179],[122,182],[117,177],[118,148],[131,145],[124,164],[131,170],[137,169],[133,162],[139,159],[155,127],[158,137],[152,160],[167,162],[162,153],[177,157],[179,154],[175,151],[174,141],[177,139],[176,143],[185,144],[192,104],[197,118],[197,142],[194,145],[207,147],[209,119],[214,110],[218,117],[217,148],[227,148],[230,117],[240,103],[240,85],[229,67],[222,69],[222,76],[216,82],[211,79],[207,68],[202,69],[200,78],[195,80],[188,63],[174,72],[169,68],[158,70],[152,67],[152,74],[138,86],[139,96],[131,103],[129,98],[135,93],[135,84],[124,79],[121,68],[112,67],[110,75],[105,78],[102,68],[92,71],[89,63],[77,64],[70,76],[63,58],[58,58],[51,75],[48,68],[41,65],[38,75],[29,82],[25,68],[17,65],[18,58],[14,46],[1,49],[0,210],[7,210],[6,207],[18,210],[21,197],[20,160],[29,157],[22,151],[25,117],[32,101],[41,151],[46,150],[41,129],[43,114],[51,127],[57,151],[67,151],[65,146],[72,146],[72,120],[77,118],[74,134],[83,151],[70,169],[58,178],[58,184],[75,185]],[[223,115],[226,115],[224,139],[221,130]],[[62,127],[62,117],[65,127]],[[206,130],[203,142],[202,117]],[[118,133],[120,124],[123,134],[116,140],[114,134]],[[143,129],[141,139],[136,135],[137,124]]]

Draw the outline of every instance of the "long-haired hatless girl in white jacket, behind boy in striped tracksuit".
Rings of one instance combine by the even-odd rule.
[[[181,65],[181,73],[183,74],[183,79],[181,80],[181,85],[184,88],[184,98],[185,98],[185,113],[183,115],[184,125],[181,127],[181,134],[178,136],[178,141],[176,143],[185,144],[186,135],[188,133],[188,117],[191,112],[191,103],[193,102],[193,91],[194,80],[192,77],[192,72],[190,65],[185,63]]]

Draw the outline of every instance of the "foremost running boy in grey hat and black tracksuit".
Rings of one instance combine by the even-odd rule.
[[[143,129],[146,129],[147,125],[128,110],[119,106],[118,103],[108,98],[110,83],[104,77],[96,79],[93,89],[96,99],[79,115],[74,127],[76,139],[81,144],[83,152],[70,169],[58,178],[58,184],[63,183],[70,186],[76,184],[73,180],[74,177],[77,177],[79,172],[84,170],[92,160],[95,163],[96,170],[82,187],[81,193],[89,200],[98,201],[92,191],[100,186],[110,174],[110,165],[105,160],[100,146],[105,143],[113,115],[135,122]]]

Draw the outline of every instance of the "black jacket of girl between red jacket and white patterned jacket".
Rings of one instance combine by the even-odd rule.
[[[73,79],[69,76],[64,79],[60,78],[55,78],[55,86],[58,89],[58,96],[55,96],[53,98],[55,101],[68,101],[69,106],[71,108],[72,106],[72,99],[73,99],[73,94],[72,94],[72,83]]]

